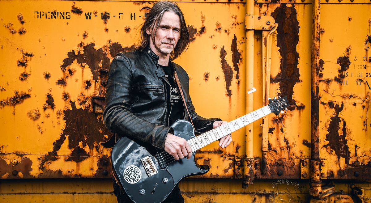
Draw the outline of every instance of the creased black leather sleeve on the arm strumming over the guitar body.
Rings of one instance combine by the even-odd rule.
[[[135,85],[132,70],[125,57],[116,56],[111,63],[106,87],[106,108],[103,113],[105,126],[112,133],[134,137],[164,149],[171,127],[150,123],[131,112]]]

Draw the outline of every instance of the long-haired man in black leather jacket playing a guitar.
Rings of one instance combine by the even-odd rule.
[[[188,75],[172,62],[188,44],[189,33],[179,7],[170,1],[155,3],[142,26],[137,50],[120,53],[111,63],[103,118],[112,133],[150,143],[175,160],[190,159],[191,147],[185,139],[172,134],[169,127],[175,120],[193,122],[200,133],[227,123],[205,119],[194,111]],[[224,136],[219,146],[224,148],[231,141],[230,135]],[[115,182],[114,193],[119,203],[131,202]],[[165,202],[184,202],[178,187]]]

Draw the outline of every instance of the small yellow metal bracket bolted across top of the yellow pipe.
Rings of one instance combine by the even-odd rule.
[[[245,16],[245,30],[272,30],[275,19],[272,16]]]

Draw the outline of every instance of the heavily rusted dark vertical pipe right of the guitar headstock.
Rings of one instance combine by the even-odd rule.
[[[319,14],[320,0],[313,0],[313,27],[312,27],[312,88],[311,88],[311,166],[309,193],[319,197],[322,193],[321,160],[319,158]]]

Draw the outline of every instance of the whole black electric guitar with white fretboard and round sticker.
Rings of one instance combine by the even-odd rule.
[[[180,180],[209,171],[207,165],[201,166],[195,162],[196,150],[269,113],[278,115],[288,106],[287,97],[269,99],[267,106],[197,137],[190,122],[184,119],[177,120],[171,127],[176,136],[184,138],[191,146],[191,159],[175,161],[170,154],[159,152],[149,144],[123,137],[116,142],[111,153],[115,179],[119,182],[121,190],[134,202],[161,203]]]

